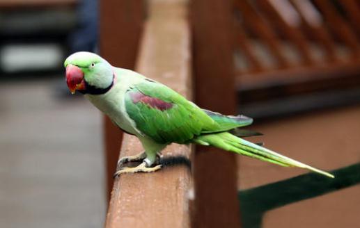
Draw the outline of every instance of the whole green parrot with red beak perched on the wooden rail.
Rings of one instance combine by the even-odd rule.
[[[91,52],[77,52],[66,58],[66,83],[93,103],[123,131],[139,138],[145,152],[120,158],[115,175],[128,172],[153,172],[162,168],[158,154],[166,145],[196,143],[219,147],[262,161],[318,172],[313,168],[265,147],[246,141],[246,131],[238,128],[253,120],[244,115],[221,115],[201,109],[178,92],[145,76],[111,66]],[[234,131],[234,129],[238,131]],[[236,133],[237,132],[237,133]],[[237,136],[235,136],[235,134]],[[130,161],[142,161],[135,168],[122,167]]]

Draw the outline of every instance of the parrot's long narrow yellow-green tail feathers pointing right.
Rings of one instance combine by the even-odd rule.
[[[252,158],[258,158],[262,161],[268,161],[277,165],[305,168],[307,170],[323,174],[327,177],[334,178],[334,175],[329,172],[324,172],[322,170],[318,170],[317,168],[313,168],[310,165],[295,161],[292,158],[288,158],[266,149],[265,147],[261,147],[242,138],[238,138],[228,132],[204,134],[196,137],[194,142],[200,145],[212,145],[230,152],[250,156]]]

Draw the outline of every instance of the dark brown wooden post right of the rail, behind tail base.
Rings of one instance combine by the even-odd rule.
[[[196,104],[236,114],[233,1],[193,0],[193,66]],[[240,227],[235,154],[196,147],[192,227]]]

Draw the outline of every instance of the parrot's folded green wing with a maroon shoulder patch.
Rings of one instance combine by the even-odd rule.
[[[129,88],[125,108],[136,128],[159,143],[186,143],[202,131],[219,129],[201,108],[155,81]]]

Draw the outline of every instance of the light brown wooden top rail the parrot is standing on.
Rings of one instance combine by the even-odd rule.
[[[187,3],[148,1],[136,71],[191,98]],[[121,156],[141,152],[137,138],[124,135]],[[163,154],[189,157],[185,145],[171,145]],[[114,181],[105,227],[189,227],[189,170],[185,165],[154,173],[123,174]]]

